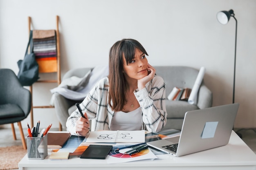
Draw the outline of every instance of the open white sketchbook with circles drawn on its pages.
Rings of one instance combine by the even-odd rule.
[[[144,143],[144,130],[103,130],[90,132],[85,143]]]

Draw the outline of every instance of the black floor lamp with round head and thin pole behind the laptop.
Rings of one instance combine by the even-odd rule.
[[[217,20],[220,24],[227,24],[229,22],[230,17],[233,17],[235,20],[235,14],[232,9],[229,11],[220,11],[217,13]],[[237,34],[237,20],[236,20],[236,34]],[[235,62],[234,62],[234,82],[233,82],[233,100],[232,103],[235,102],[235,81],[236,80],[236,40],[235,40]]]

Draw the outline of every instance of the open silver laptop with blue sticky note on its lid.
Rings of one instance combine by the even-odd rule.
[[[227,145],[239,104],[227,104],[185,114],[179,137],[147,142],[176,157]]]

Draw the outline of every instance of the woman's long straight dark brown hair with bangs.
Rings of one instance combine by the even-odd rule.
[[[144,47],[137,40],[133,39],[117,41],[110,48],[108,104],[114,111],[121,111],[126,104],[126,79],[124,78],[123,55],[128,65],[134,59],[136,49],[148,55]]]

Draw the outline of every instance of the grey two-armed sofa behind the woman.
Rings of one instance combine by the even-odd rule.
[[[72,69],[63,76],[63,79],[72,76],[83,77],[90,69],[91,68]],[[184,115],[187,111],[212,106],[212,92],[205,86],[204,81],[202,81],[198,91],[197,104],[189,104],[186,101],[170,101],[167,99],[167,96],[175,86],[192,89],[199,70],[187,66],[155,66],[155,69],[156,74],[160,75],[166,83],[166,111],[168,115],[167,123],[164,128],[181,130]],[[65,124],[67,117],[76,109],[76,102],[82,101],[73,101],[66,99],[58,93],[54,94],[54,107],[63,130],[66,130]]]

